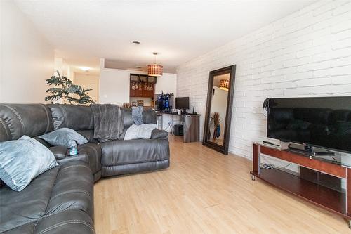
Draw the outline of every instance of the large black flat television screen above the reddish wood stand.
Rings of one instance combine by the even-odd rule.
[[[351,97],[270,98],[267,136],[351,152]]]

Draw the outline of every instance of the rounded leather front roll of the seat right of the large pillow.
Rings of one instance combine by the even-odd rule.
[[[81,209],[93,218],[93,176],[84,162],[60,165],[46,215],[67,209]]]

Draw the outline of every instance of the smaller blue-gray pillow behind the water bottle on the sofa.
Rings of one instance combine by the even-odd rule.
[[[51,131],[48,134],[39,136],[39,138],[47,141],[51,145],[65,146],[67,148],[77,146],[77,144],[81,145],[88,143],[88,140],[86,140],[84,136],[81,136],[77,131],[68,128]]]

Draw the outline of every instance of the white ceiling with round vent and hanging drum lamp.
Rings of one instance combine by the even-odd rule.
[[[134,69],[153,63],[157,51],[164,72],[176,72],[178,65],[314,1],[15,2],[72,65],[98,67],[99,58],[106,58],[116,68]]]

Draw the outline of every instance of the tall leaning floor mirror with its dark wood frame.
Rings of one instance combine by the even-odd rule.
[[[203,145],[228,154],[235,65],[210,72]]]

